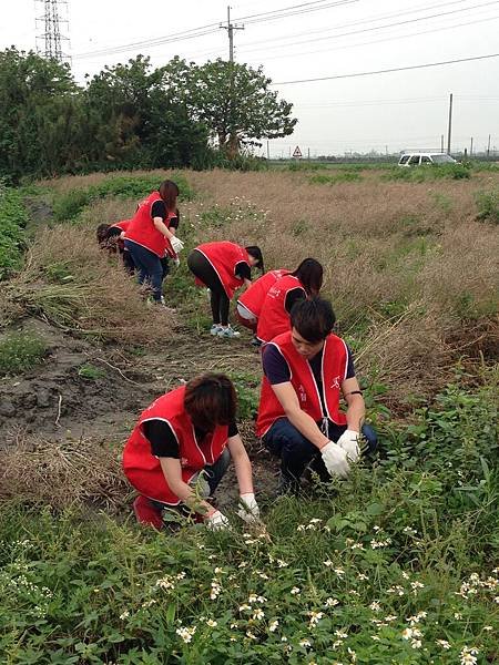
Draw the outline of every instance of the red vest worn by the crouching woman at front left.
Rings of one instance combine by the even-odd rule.
[[[222,454],[228,438],[228,427],[215,428],[203,441],[197,441],[194,426],[184,409],[185,386],[166,392],[154,401],[139,418],[123,451],[123,470],[130,483],[149,499],[177,505],[180,503],[170,489],[160,460],[151,452],[151,443],[143,432],[143,423],[157,418],[170,424],[180,447],[182,479],[187,482],[206,464],[213,464]]]

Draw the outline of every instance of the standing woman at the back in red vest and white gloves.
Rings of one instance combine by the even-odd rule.
[[[139,284],[151,284],[155,303],[164,305],[162,283],[164,268],[161,259],[170,256],[177,259],[184,244],[175,236],[179,226],[176,198],[179,187],[172,181],[161,183],[139,204],[136,213],[124,235],[124,247],[139,269]]]

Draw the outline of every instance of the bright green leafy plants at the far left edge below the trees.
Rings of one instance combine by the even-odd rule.
[[[27,223],[28,213],[21,193],[0,183],[0,280],[22,265]]]

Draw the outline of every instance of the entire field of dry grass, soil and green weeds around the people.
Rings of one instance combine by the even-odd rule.
[[[390,173],[173,174],[175,318],[94,241],[163,172],[10,192],[16,226],[0,203],[16,243],[0,289],[2,663],[498,661],[499,173]],[[207,239],[261,245],[267,268],[323,263],[380,436],[374,464],[273,497],[252,424],[258,356],[247,335],[211,338],[185,267]],[[228,485],[230,532],[132,519],[120,454],[134,419],[207,369],[236,383],[267,535],[237,522]]]

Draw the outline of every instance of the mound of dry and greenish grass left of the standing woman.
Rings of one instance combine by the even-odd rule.
[[[157,330],[173,328],[171,315],[146,306],[119,258],[99,249],[93,228],[70,225],[41,231],[24,268],[2,290],[4,323],[21,310],[122,344],[155,344]]]

